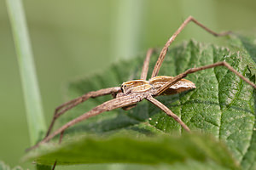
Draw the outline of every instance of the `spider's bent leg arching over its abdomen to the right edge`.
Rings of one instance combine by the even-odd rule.
[[[162,86],[161,88],[159,88],[154,95],[160,95],[162,94],[164,91],[166,91],[166,89],[170,88],[173,84],[175,84],[177,81],[181,80],[184,77],[187,77],[189,74],[194,73],[196,71],[202,71],[202,70],[206,70],[206,69],[210,69],[216,66],[225,66],[226,68],[228,68],[230,71],[234,72],[236,74],[236,76],[240,77],[243,81],[247,82],[248,84],[250,84],[253,88],[256,88],[256,85],[253,84],[253,82],[250,82],[246,77],[243,77],[238,71],[236,71],[231,65],[229,65],[228,63],[226,63],[225,61],[221,61],[221,62],[217,62],[214,63],[212,65],[205,65],[205,66],[201,66],[201,67],[197,67],[197,68],[191,68],[179,75],[177,75],[176,77],[174,77],[172,79],[172,81],[170,82],[166,82],[166,84],[164,86]]]

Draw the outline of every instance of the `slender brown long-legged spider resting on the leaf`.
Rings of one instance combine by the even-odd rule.
[[[64,131],[67,127],[72,127],[74,124],[84,121],[85,119],[101,114],[104,111],[112,111],[114,109],[122,108],[124,110],[130,110],[132,107],[136,106],[138,102],[143,99],[147,99],[153,105],[159,107],[162,111],[166,112],[168,116],[172,116],[172,118],[178,122],[184,130],[187,132],[190,131],[189,127],[177,116],[175,115],[166,105],[160,103],[159,100],[154,99],[154,97],[159,95],[171,95],[181,93],[183,91],[187,91],[189,89],[196,88],[193,82],[189,80],[183,79],[187,77],[187,75],[194,73],[196,71],[207,70],[216,66],[224,66],[230,71],[234,72],[238,77],[240,77],[243,81],[250,84],[253,88],[256,88],[256,85],[253,82],[250,82],[246,77],[243,77],[238,71],[236,71],[233,67],[231,67],[228,63],[221,61],[211,65],[205,65],[197,68],[191,68],[183,73],[177,75],[176,77],[167,77],[167,76],[157,76],[160,71],[160,66],[165,59],[166,52],[171,43],[175,40],[177,35],[183,30],[185,26],[189,24],[189,22],[193,21],[197,26],[201,26],[205,31],[208,31],[215,37],[222,37],[230,34],[230,31],[216,33],[215,31],[210,30],[206,26],[202,25],[200,22],[195,20],[192,16],[189,16],[186,20],[183,21],[183,24],[177,29],[177,31],[172,35],[172,37],[166,42],[164,48],[162,48],[160,52],[160,56],[154,65],[154,70],[152,72],[151,78],[147,81],[148,75],[148,65],[151,54],[154,53],[154,49],[148,49],[148,53],[146,55],[146,59],[144,59],[143,70],[141,73],[141,77],[139,80],[132,80],[128,82],[123,82],[121,87],[114,88],[103,88],[97,91],[92,91],[87,94],[80,96],[79,98],[73,99],[58,106],[55,109],[55,114],[53,119],[49,125],[49,129],[46,133],[46,136],[43,140],[38,142],[38,144],[32,146],[32,148],[38,147],[39,144],[43,144],[48,142],[50,139],[54,138],[57,134],[61,133],[60,142],[63,136]],[[110,99],[102,105],[97,105],[92,110],[84,113],[83,115],[73,119],[70,122],[67,122],[65,125],[55,130],[55,132],[50,133],[51,129],[55,123],[55,120],[61,116],[66,111],[72,109],[76,105],[79,105],[90,98],[96,98],[103,95],[113,94],[114,99]]]

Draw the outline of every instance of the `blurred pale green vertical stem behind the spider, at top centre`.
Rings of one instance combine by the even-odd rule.
[[[117,3],[117,12],[114,14],[113,25],[113,56],[130,58],[137,54],[141,28],[143,26],[144,0],[120,0]]]

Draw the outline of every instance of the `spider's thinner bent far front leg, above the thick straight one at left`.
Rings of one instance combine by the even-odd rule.
[[[49,135],[52,127],[54,126],[55,120],[61,116],[63,113],[65,113],[66,111],[72,109],[74,106],[79,105],[81,103],[83,103],[84,101],[86,101],[89,98],[96,98],[102,95],[108,95],[108,94],[113,94],[113,93],[118,93],[120,92],[121,89],[119,87],[115,87],[115,88],[103,88],[97,91],[93,91],[93,92],[89,92],[87,94],[84,94],[82,96],[80,96],[79,98],[76,99],[72,99],[60,106],[58,106],[55,109],[55,114],[52,118],[52,121],[49,124],[49,128],[47,130],[47,133],[45,135],[45,138]]]

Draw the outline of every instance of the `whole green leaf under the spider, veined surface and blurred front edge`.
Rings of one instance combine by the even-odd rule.
[[[229,42],[235,44],[238,41],[237,37],[231,37]],[[239,43],[236,43],[236,48],[233,45],[223,48],[195,41],[183,42],[169,50],[159,75],[176,76],[192,67],[225,60],[236,71],[255,81],[252,68],[248,67],[255,63],[247,49],[241,43],[240,46],[237,44]],[[151,58],[149,74],[159,52]],[[67,100],[92,90],[115,87],[122,82],[137,79],[140,77],[144,56],[145,54],[141,54],[135,59],[121,61],[101,74],[71,82],[67,88]],[[187,79],[195,82],[197,88],[156,99],[180,116],[192,131],[210,133],[214,139],[223,141],[232,155],[222,143],[207,135],[186,135],[172,117],[143,101],[131,111],[118,109],[105,112],[70,127],[65,131],[62,144],[45,144],[41,149],[29,153],[26,160],[36,159],[38,163],[44,164],[52,163],[55,159],[65,164],[172,164],[195,160],[202,164],[211,161],[228,168],[237,168],[238,162],[245,167],[243,164],[248,159],[247,156],[255,153],[253,88],[233,72],[220,66],[196,72]],[[108,99],[111,96],[89,99],[61,116],[58,126]],[[184,135],[177,138],[175,136],[178,133]],[[255,155],[253,156],[253,161],[256,161]]]

